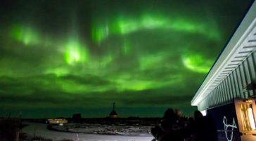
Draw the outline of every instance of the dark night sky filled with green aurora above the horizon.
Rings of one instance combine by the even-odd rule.
[[[250,3],[1,1],[0,117],[189,115]]]

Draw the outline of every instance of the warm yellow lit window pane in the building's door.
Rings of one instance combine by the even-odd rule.
[[[251,104],[239,104],[243,130],[255,130],[255,120]]]

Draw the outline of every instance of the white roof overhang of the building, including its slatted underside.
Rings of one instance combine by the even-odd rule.
[[[191,100],[196,106],[256,49],[256,1]]]

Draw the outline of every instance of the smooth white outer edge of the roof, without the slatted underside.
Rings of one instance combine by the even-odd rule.
[[[203,100],[206,96],[203,92],[208,88],[213,79],[217,76],[219,69],[221,69],[229,59],[231,59],[232,53],[238,50],[238,44],[242,43],[245,39],[245,35],[248,34],[248,29],[251,28],[253,22],[256,20],[256,1],[252,3],[250,6],[248,13],[246,13],[245,17],[241,21],[240,25],[237,27],[236,32],[233,33],[226,46],[224,46],[224,50],[220,53],[219,58],[215,61],[215,64],[210,69],[210,72],[205,77],[205,80],[201,84],[200,88],[198,88],[196,95],[194,95],[191,100],[191,105],[197,106],[200,100]],[[204,95],[204,96],[203,96]]]

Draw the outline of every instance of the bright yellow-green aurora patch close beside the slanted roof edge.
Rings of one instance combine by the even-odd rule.
[[[202,55],[184,55],[182,57],[183,63],[186,68],[191,69],[193,72],[207,73],[213,65],[213,60],[207,60]]]

